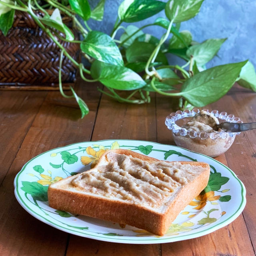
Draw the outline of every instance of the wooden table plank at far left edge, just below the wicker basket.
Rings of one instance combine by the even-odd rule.
[[[0,184],[47,92],[0,92]]]

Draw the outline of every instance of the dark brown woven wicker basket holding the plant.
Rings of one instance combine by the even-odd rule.
[[[63,22],[68,24],[69,18]],[[72,31],[75,38],[79,35]],[[74,58],[80,56],[78,44],[58,40]],[[60,49],[26,12],[16,11],[7,36],[0,32],[0,89],[58,90]],[[76,67],[64,56],[63,88],[76,79]]]

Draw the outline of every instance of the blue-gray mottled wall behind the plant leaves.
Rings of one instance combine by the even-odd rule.
[[[93,5],[98,1],[90,2]],[[88,24],[95,30],[109,34],[121,2],[122,0],[106,0],[103,22],[89,20]],[[159,16],[165,17],[164,11],[133,25],[148,24]],[[219,58],[215,57],[210,61],[206,65],[208,68],[246,59],[249,59],[256,68],[256,0],[205,0],[199,14],[189,21],[182,22],[180,30],[189,30],[193,40],[198,42],[209,38],[228,38],[218,53]],[[143,31],[159,38],[165,30],[152,26]],[[117,34],[116,38],[119,35]],[[169,59],[172,63],[183,63],[174,56],[170,56]]]

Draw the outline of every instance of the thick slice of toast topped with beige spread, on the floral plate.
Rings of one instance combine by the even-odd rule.
[[[207,186],[210,166],[167,162],[131,150],[107,150],[86,172],[51,184],[58,210],[128,224],[162,236]]]

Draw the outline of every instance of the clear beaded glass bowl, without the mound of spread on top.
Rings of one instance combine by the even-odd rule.
[[[226,112],[219,113],[218,110],[210,112],[208,109],[204,109],[204,111],[213,114],[218,118],[219,122],[242,123],[240,118],[228,115]],[[197,108],[192,111],[178,110],[166,117],[165,124],[169,130],[172,130],[174,142],[177,146],[211,157],[223,154],[230,148],[236,135],[240,134],[240,132],[196,132],[183,128],[199,112],[200,110]]]

